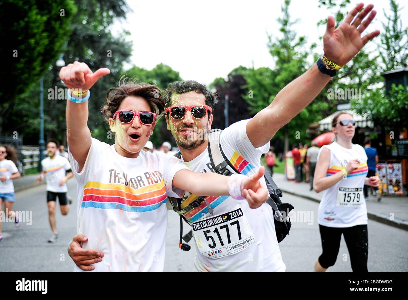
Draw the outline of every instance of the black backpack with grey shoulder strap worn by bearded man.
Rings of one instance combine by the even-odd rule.
[[[220,134],[222,130],[220,129],[212,129],[208,133],[208,155],[210,156],[211,165],[214,171],[218,174],[231,176],[232,174],[239,174],[239,171],[235,169],[235,167],[231,164],[228,158],[225,156],[224,152],[222,151],[221,144],[220,144]],[[176,153],[175,156],[177,158],[181,158],[181,153]],[[275,222],[275,232],[276,238],[278,243],[282,242],[284,238],[289,234],[290,227],[292,223],[290,222],[290,218],[288,213],[294,209],[292,204],[289,203],[282,203],[279,197],[282,197],[282,191],[277,187],[275,182],[273,181],[271,175],[268,171],[265,170],[264,175],[266,181],[266,187],[269,192],[269,198],[266,201],[272,207],[274,222]],[[186,222],[187,220],[183,217],[184,213],[190,211],[191,209],[200,206],[203,201],[206,201],[203,197],[199,197],[190,204],[188,204],[183,209],[180,208],[181,199],[167,197],[169,202],[173,206],[173,210],[176,211],[180,215],[180,244],[179,247],[182,250],[190,250],[190,246],[183,244],[182,239],[185,242],[189,242],[193,237],[193,232],[188,232],[184,237],[182,237],[182,219]],[[208,212],[210,214],[213,213],[213,209],[210,207],[208,202]],[[283,212],[283,214],[282,214]],[[188,223],[188,222],[187,222]]]

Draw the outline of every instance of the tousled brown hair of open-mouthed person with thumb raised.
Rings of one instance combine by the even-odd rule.
[[[106,121],[113,117],[119,109],[122,100],[128,96],[139,96],[149,103],[151,112],[161,115],[164,113],[164,100],[162,90],[156,85],[137,82],[136,78],[122,76],[116,87],[111,87],[106,93],[106,104],[102,106],[101,112]]]

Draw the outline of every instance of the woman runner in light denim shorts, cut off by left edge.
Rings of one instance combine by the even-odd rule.
[[[2,235],[2,218],[12,218],[16,227],[20,226],[18,215],[13,211],[16,196],[14,194],[13,180],[20,178],[20,172],[13,160],[17,161],[16,149],[0,145],[0,242]],[[3,209],[4,202],[4,211]]]

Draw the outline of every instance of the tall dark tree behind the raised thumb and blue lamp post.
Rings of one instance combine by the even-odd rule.
[[[126,17],[129,8],[126,2],[117,0],[74,0],[76,6],[69,35],[62,38],[64,49],[60,51],[66,64],[75,60],[85,62],[91,70],[100,67],[111,69],[109,76],[104,76],[94,85],[89,100],[88,126],[92,136],[99,140],[112,143],[109,127],[102,119],[100,109],[104,104],[106,91],[116,84],[122,73],[123,63],[131,55],[131,42],[125,41],[126,31],[115,35],[111,33],[110,25],[115,18]],[[65,13],[71,13],[65,9]],[[58,56],[56,57],[58,58]],[[47,64],[44,78],[44,135],[46,140],[55,138],[66,142],[66,100],[57,99],[50,91],[64,89],[58,77],[60,68],[55,66],[56,58]],[[9,131],[18,131],[24,135],[24,144],[38,143],[38,81],[20,98],[7,118],[6,128]],[[50,99],[51,98],[51,99]],[[33,109],[35,108],[35,109]],[[24,120],[24,122],[21,122]],[[30,126],[27,126],[30,124]],[[10,133],[10,132],[9,132]]]

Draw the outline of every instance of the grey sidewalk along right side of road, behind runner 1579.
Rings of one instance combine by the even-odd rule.
[[[274,173],[273,180],[283,192],[282,202],[285,202],[285,193],[299,196],[315,202],[322,200],[323,193],[310,191],[306,182],[295,183],[284,178],[284,174]],[[378,202],[370,195],[367,201],[367,214],[370,220],[375,220],[393,227],[408,231],[408,197],[383,196]]]

